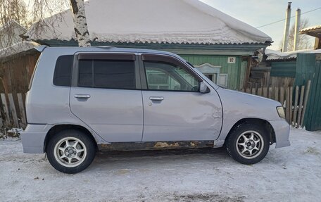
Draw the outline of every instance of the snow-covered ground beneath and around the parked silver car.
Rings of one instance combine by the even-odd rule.
[[[223,149],[98,153],[76,175],[21,141],[0,141],[0,201],[318,201],[321,132],[291,130],[291,146],[241,165]],[[319,198],[319,199],[317,199]]]

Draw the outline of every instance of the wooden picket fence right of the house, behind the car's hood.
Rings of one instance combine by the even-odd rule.
[[[263,96],[282,103],[285,117],[293,127],[304,127],[304,114],[310,92],[311,81],[306,86],[296,87],[263,87],[241,89],[248,94]]]

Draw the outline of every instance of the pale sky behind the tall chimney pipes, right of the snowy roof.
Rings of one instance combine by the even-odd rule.
[[[243,21],[253,27],[259,27],[268,23],[285,18],[287,2],[284,0],[201,0],[214,8],[231,15],[233,18]],[[300,8],[301,13],[321,7],[321,0],[292,0],[291,16],[296,14],[296,9]],[[310,26],[321,25],[321,9],[301,15],[308,18]],[[295,18],[291,18],[291,25]],[[274,43],[268,49],[279,49],[284,34],[284,21],[258,28],[269,35]],[[314,37],[310,37],[310,42],[314,43]]]

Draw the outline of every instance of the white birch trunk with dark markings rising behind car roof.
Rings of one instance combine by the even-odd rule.
[[[84,0],[70,0],[71,11],[75,24],[75,34],[78,39],[78,46],[91,46],[87,27],[87,18],[84,13]]]

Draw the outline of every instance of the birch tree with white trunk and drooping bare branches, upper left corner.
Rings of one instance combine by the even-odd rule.
[[[36,32],[42,32],[46,30],[46,27],[54,30],[55,27],[48,24],[48,21],[44,20],[44,18],[70,8],[73,13],[75,35],[79,46],[91,45],[84,11],[84,0],[30,0],[29,4],[25,5],[23,0],[0,0],[0,27],[8,24],[10,20],[15,20],[26,28],[33,24]],[[31,11],[27,11],[29,7]],[[56,15],[56,18],[59,17],[60,15]],[[6,30],[6,34],[9,31],[13,32],[13,30],[9,29]]]

